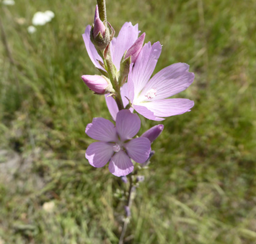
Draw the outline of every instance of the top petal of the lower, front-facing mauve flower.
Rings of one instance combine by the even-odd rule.
[[[116,131],[121,139],[125,141],[134,137],[140,130],[140,118],[137,114],[123,109],[116,115]]]

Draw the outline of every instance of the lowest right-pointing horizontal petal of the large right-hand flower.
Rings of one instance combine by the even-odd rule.
[[[185,98],[170,98],[142,103],[156,117],[169,117],[190,111],[194,101]]]

